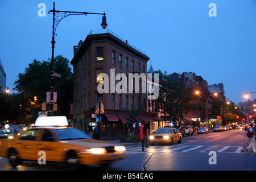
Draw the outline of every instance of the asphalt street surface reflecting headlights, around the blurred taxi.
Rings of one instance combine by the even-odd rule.
[[[114,142],[114,141],[113,141]],[[119,143],[118,141],[115,141]],[[176,170],[253,170],[256,167],[255,153],[241,152],[244,145],[243,131],[230,130],[220,133],[195,134],[183,138],[182,143],[150,146],[142,152],[141,143],[123,143],[127,158],[102,168],[97,165],[83,167],[86,170],[101,171],[176,171]],[[216,152],[216,164],[209,164],[210,152]],[[63,164],[23,162],[12,168],[7,159],[0,160],[1,170],[65,170]]]

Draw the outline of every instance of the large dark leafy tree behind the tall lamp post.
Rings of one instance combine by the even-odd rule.
[[[68,106],[72,102],[73,73],[69,60],[61,55],[55,57],[54,69],[61,77],[54,77],[54,92],[57,92],[58,115],[69,115]],[[27,107],[27,117],[34,120],[38,111],[42,110],[42,103],[46,102],[46,92],[50,90],[51,60],[35,60],[28,64],[24,73],[19,73],[14,82],[15,90],[22,94]],[[37,100],[34,100],[36,96]]]

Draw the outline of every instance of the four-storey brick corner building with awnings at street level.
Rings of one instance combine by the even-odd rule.
[[[91,31],[84,42],[74,46],[73,65],[73,126],[88,133],[88,126],[94,127],[98,139],[127,137],[126,108],[147,110],[147,93],[110,93],[110,77],[118,73],[147,74],[146,53],[131,46],[112,31]],[[110,72],[114,69],[114,72]],[[97,86],[103,81],[100,73],[109,77],[109,92],[98,93]],[[113,81],[113,80],[112,80]],[[115,85],[119,80],[113,81]],[[101,108],[101,111],[99,112]],[[101,115],[101,121],[97,117]]]

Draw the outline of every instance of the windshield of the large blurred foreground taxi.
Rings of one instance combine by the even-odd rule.
[[[89,135],[75,128],[56,129],[56,131],[59,134],[61,141],[90,139]]]

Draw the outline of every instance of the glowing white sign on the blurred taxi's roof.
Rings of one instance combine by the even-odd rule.
[[[38,117],[34,126],[68,126],[68,119],[65,116]]]

